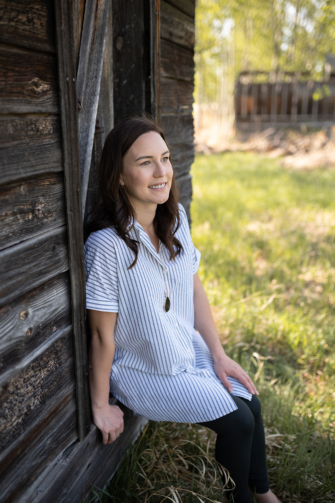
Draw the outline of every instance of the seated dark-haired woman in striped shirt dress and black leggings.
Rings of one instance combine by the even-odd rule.
[[[225,354],[197,273],[162,130],[120,122],[99,168],[100,205],[85,244],[93,419],[103,443],[123,431],[110,391],[154,421],[193,422],[217,433],[216,459],[235,503],[278,503],[269,489],[258,391]]]

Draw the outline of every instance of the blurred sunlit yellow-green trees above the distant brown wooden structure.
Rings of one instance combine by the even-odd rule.
[[[198,0],[196,101],[217,102],[220,79],[229,86],[240,71],[318,78],[334,52],[334,0]]]

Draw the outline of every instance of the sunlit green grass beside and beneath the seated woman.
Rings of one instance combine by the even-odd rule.
[[[198,155],[192,176],[199,274],[226,352],[257,382],[271,488],[334,503],[335,171],[225,153]],[[225,501],[213,441],[149,423],[100,501]]]

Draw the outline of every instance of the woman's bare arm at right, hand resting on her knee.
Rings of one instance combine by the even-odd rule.
[[[215,322],[213,319],[212,311],[207,299],[206,292],[199,278],[199,274],[194,275],[194,316],[195,328],[200,333],[201,337],[208,346],[208,349],[214,360],[214,371],[218,378],[221,380],[224,387],[232,392],[231,384],[228,376],[235,377],[246,389],[253,395],[259,394],[255,384],[250,379],[248,374],[244,372],[238,363],[229,358],[222,348],[219,340]]]

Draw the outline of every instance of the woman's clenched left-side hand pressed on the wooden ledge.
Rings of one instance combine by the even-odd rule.
[[[103,435],[103,444],[111,444],[123,432],[123,412],[118,405],[92,408],[94,424]]]

